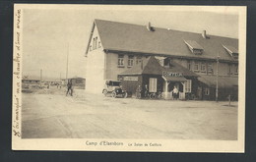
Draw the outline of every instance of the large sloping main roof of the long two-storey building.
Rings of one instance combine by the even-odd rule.
[[[203,38],[201,33],[179,31],[154,27],[154,31],[147,26],[138,26],[103,20],[95,20],[103,49],[124,52],[139,52],[172,57],[190,57],[201,59],[216,59],[220,53],[220,60],[234,61],[226,52],[222,44],[238,49],[238,39],[208,35]],[[93,27],[94,28],[94,27]],[[191,53],[184,40],[195,47],[202,47],[202,55]]]

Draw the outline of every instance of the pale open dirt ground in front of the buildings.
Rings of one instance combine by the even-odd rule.
[[[23,138],[237,139],[237,102],[23,93]]]

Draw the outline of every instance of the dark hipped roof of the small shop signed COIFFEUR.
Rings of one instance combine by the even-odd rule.
[[[198,77],[195,73],[173,61],[170,68],[164,68],[154,56],[149,57],[142,64],[137,64],[122,72],[120,75],[162,75],[163,71],[181,73],[184,77]]]

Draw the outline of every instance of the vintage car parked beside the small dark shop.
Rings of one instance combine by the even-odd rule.
[[[122,89],[121,81],[105,81],[104,89],[102,90],[104,96],[111,94],[112,97],[127,97],[127,91]]]

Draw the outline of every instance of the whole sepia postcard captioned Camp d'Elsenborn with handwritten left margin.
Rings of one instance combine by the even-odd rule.
[[[15,4],[14,150],[244,152],[246,7]]]

